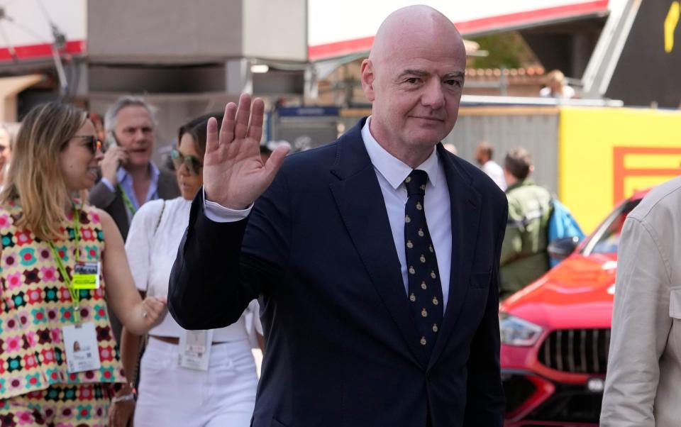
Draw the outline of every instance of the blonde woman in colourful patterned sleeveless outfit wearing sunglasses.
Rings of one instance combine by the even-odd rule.
[[[28,113],[0,194],[0,423],[106,426],[125,383],[106,301],[134,333],[165,314],[135,291],[111,217],[84,203],[100,143],[87,113]]]

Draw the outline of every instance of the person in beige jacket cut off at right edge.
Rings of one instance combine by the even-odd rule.
[[[681,426],[681,177],[631,211],[620,242],[601,427]]]

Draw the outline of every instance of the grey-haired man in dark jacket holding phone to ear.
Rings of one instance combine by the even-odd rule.
[[[90,190],[89,200],[114,218],[123,239],[140,206],[150,200],[179,196],[175,174],[159,170],[151,160],[154,113],[143,99],[123,96],[104,116],[106,153],[100,165],[101,180]],[[111,326],[118,340],[121,323],[112,316]]]

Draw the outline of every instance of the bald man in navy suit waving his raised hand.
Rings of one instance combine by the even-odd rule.
[[[260,160],[264,104],[209,122],[204,192],[170,279],[190,329],[259,298],[255,427],[503,425],[498,272],[506,196],[440,141],[466,55],[427,6],[392,13],[362,63],[372,115],[333,143]]]

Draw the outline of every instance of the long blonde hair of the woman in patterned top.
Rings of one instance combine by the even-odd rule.
[[[66,203],[71,195],[60,165],[60,153],[87,121],[76,106],[48,102],[35,106],[16,135],[3,204],[18,201],[23,215],[16,226],[28,228],[42,240],[62,238]]]

